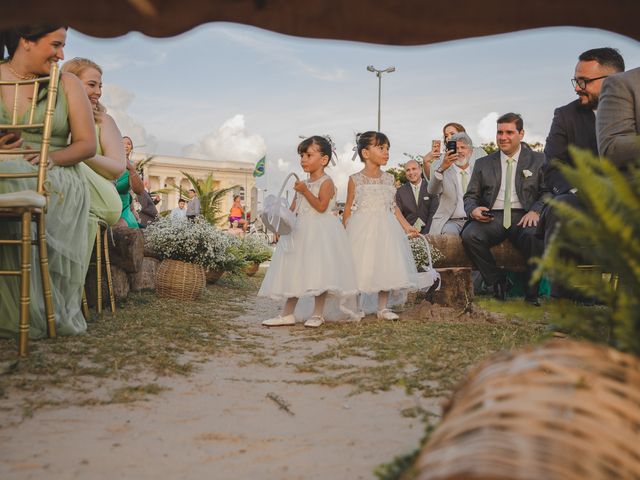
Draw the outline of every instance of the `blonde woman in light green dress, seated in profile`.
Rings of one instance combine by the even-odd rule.
[[[95,243],[98,220],[107,225],[115,225],[120,218],[120,196],[113,181],[125,169],[125,154],[122,145],[122,134],[106,108],[100,103],[102,96],[102,69],[87,58],[73,58],[62,66],[63,72],[73,73],[84,86],[95,121],[98,140],[96,155],[82,162],[89,186],[91,203],[89,208],[88,257],[91,257]]]

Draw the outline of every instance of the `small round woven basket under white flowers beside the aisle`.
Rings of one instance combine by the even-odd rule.
[[[160,297],[195,300],[204,290],[204,268],[193,263],[165,259],[156,272],[156,292]]]

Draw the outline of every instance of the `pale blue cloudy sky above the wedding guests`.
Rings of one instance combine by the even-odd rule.
[[[513,111],[525,141],[544,142],[556,107],[576,97],[570,79],[590,48],[620,50],[640,66],[640,42],[597,29],[554,27],[416,47],[281,35],[211,23],[177,37],[130,33],[98,39],[70,30],[67,59],[104,70],[103,103],[135,151],[255,163],[266,155],[261,189],[277,191],[301,173],[301,135],[330,135],[338,161],[327,170],[346,195],[354,136],[375,130],[378,79],[367,65],[394,66],[382,78],[381,130],[388,166],[425,154],[447,122],[474,144],[495,140],[495,120]]]

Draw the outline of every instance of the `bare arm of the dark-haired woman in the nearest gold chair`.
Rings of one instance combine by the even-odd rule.
[[[69,105],[71,143],[65,148],[51,152],[50,157],[56,165],[68,167],[94,157],[97,142],[91,104],[80,80],[71,73],[63,73],[60,78]]]

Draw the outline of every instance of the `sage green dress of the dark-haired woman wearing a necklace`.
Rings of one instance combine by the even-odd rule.
[[[68,105],[64,84],[60,89],[53,115],[51,149],[58,150],[67,146],[69,138]],[[42,121],[46,107],[46,89],[42,89],[36,106],[35,118]],[[27,115],[25,113],[25,115]],[[0,122],[9,123],[4,100],[0,102]],[[23,132],[25,144],[39,148],[40,132]],[[0,159],[1,160],[1,159]],[[36,167],[23,158],[0,161],[0,169],[9,171],[35,171]],[[34,178],[2,180],[0,193],[36,188]],[[71,167],[55,166],[47,171],[47,190],[49,202],[46,214],[47,253],[49,257],[49,273],[51,276],[51,293],[56,319],[57,333],[74,335],[86,330],[87,324],[80,309],[82,288],[87,273],[87,227],[89,220],[89,188],[81,164]],[[5,238],[18,238],[15,222],[1,222],[0,234]],[[35,238],[35,227],[33,228]],[[37,250],[34,247],[31,262],[29,307],[29,337],[46,336],[46,318],[40,281],[40,265]],[[17,268],[19,264],[18,249],[10,246],[0,248],[0,265],[6,268]],[[0,277],[0,336],[15,337],[18,334],[19,298],[18,277]]]

